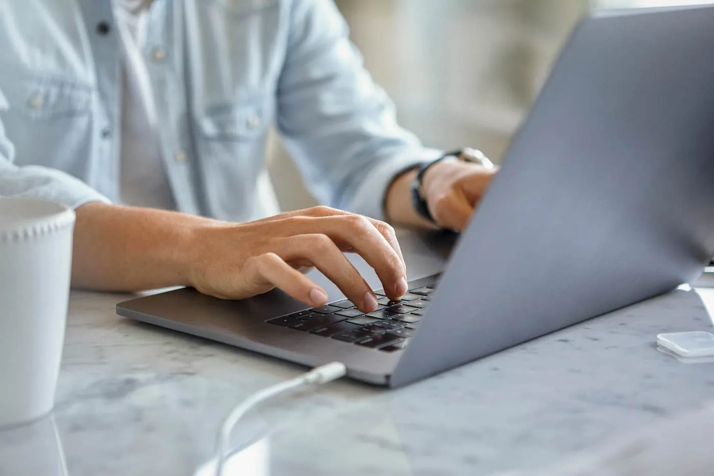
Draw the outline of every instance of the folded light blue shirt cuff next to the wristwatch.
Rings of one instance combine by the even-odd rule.
[[[394,179],[408,169],[433,162],[443,154],[439,149],[418,149],[378,162],[356,189],[347,208],[351,212],[384,221],[385,194]]]

